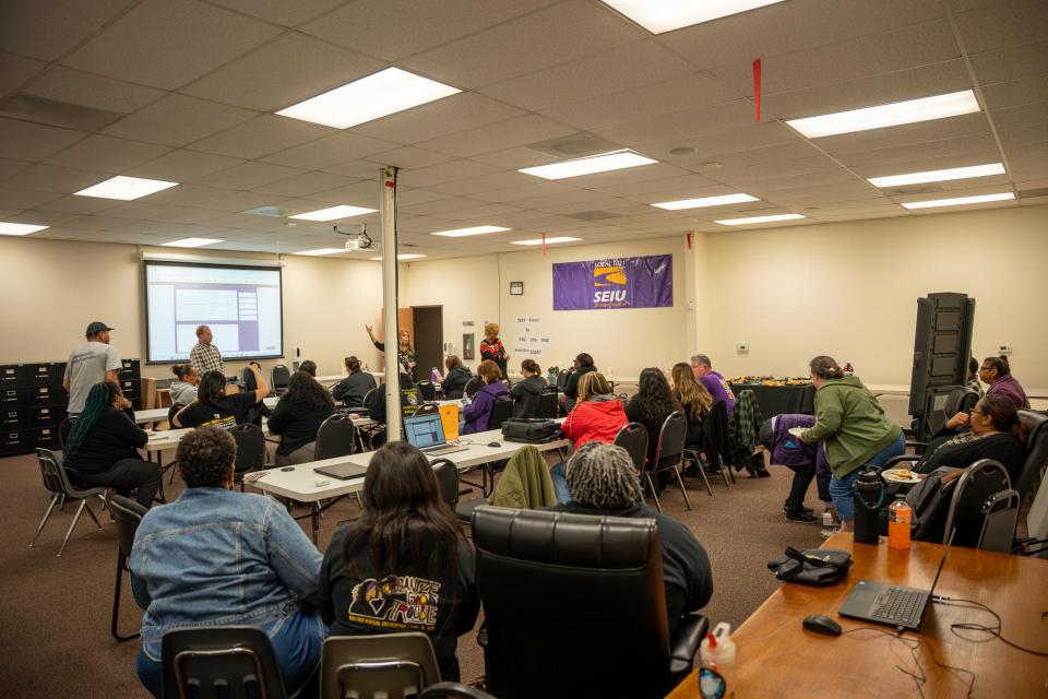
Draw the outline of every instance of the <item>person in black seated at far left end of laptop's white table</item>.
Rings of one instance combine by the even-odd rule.
[[[317,430],[335,414],[335,401],[327,389],[306,371],[296,371],[270,415],[269,428],[281,436],[276,465],[288,466],[313,460]]]

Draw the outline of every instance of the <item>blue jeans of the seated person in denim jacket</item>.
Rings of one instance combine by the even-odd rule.
[[[327,627],[319,614],[296,612],[285,619],[281,630],[270,639],[287,694],[298,691],[320,663],[320,652],[326,636]],[[164,686],[160,663],[140,650],[135,670],[139,680],[150,694],[159,697]]]

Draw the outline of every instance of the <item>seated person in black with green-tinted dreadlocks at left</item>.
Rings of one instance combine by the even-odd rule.
[[[112,488],[123,496],[138,490],[143,507],[160,487],[159,464],[143,461],[138,450],[150,436],[134,424],[131,403],[116,381],[95,383],[66,440],[62,466],[82,487]]]

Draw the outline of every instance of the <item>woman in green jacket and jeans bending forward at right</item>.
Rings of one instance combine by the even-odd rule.
[[[841,520],[841,531],[851,530],[855,500],[851,484],[865,464],[882,466],[906,451],[898,425],[884,417],[877,399],[858,378],[847,375],[833,357],[811,360],[815,384],[815,426],[801,433],[811,445],[822,441],[833,472],[830,496]]]

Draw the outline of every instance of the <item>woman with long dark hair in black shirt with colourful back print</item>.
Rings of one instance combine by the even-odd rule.
[[[420,451],[391,442],[374,452],[360,519],[341,528],[320,569],[318,608],[332,636],[421,631],[442,679],[457,682],[457,639],[480,609],[473,546],[440,496]]]

